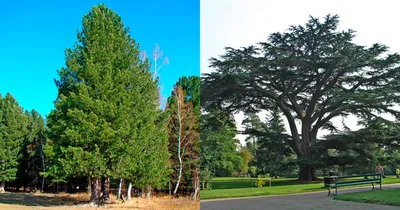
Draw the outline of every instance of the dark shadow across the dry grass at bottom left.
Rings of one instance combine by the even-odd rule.
[[[87,199],[59,195],[40,195],[28,193],[1,193],[0,203],[24,206],[64,206],[88,203]]]

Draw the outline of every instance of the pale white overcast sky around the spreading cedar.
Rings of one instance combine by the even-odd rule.
[[[283,32],[290,25],[303,25],[309,16],[324,17],[328,13],[340,17],[339,30],[353,29],[354,42],[364,46],[382,43],[390,52],[400,53],[400,2],[327,1],[327,0],[201,0],[200,1],[200,72],[208,68],[211,57],[224,54],[224,47],[245,47],[266,41],[274,32]],[[261,116],[263,116],[261,114]],[[243,115],[235,116],[240,129]],[[336,123],[341,122],[335,119]],[[352,129],[358,129],[356,118],[346,119]],[[289,131],[289,129],[288,129]],[[320,135],[327,132],[320,132]],[[244,136],[238,136],[243,143]]]

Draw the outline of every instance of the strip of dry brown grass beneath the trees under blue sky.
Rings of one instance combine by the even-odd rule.
[[[40,194],[40,193],[3,193],[0,194],[1,210],[78,210],[78,209],[165,209],[165,210],[198,210],[199,201],[188,198],[172,199],[169,196],[157,198],[132,198],[131,201],[122,203],[116,196],[110,195],[112,204],[100,207],[88,205],[90,195],[79,194]]]

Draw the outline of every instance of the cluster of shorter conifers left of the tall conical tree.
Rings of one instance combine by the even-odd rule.
[[[11,94],[0,95],[1,188],[12,182],[15,187],[36,189],[41,183],[43,131],[44,120],[38,112],[24,112]]]

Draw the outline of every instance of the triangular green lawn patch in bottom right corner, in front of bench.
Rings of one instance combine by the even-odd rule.
[[[359,193],[338,195],[334,199],[362,203],[377,203],[400,206],[400,189],[366,191]]]

